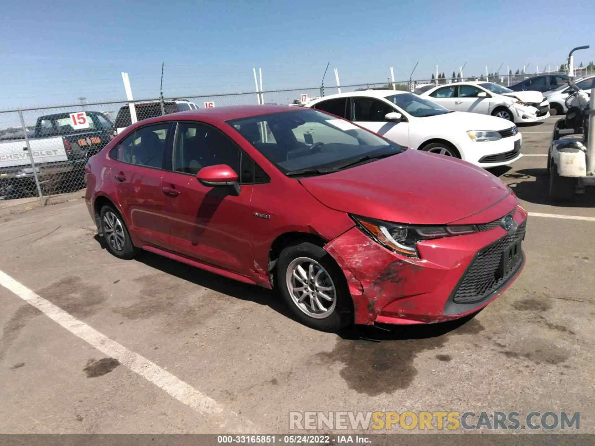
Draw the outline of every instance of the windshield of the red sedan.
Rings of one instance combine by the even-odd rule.
[[[383,158],[406,150],[349,121],[308,108],[227,123],[284,174],[306,169],[312,171],[304,174],[328,173],[371,155]]]

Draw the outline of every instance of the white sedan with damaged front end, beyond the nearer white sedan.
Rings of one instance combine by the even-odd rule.
[[[549,118],[550,105],[541,92],[515,92],[492,82],[456,82],[439,85],[422,97],[452,111],[497,116],[516,124]]]

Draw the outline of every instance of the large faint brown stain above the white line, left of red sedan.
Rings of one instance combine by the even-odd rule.
[[[99,285],[85,284],[76,276],[64,277],[36,293],[77,318],[94,315],[106,299]]]

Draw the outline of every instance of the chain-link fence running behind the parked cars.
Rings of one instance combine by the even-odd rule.
[[[455,74],[455,73],[453,73]],[[545,73],[543,73],[545,75]],[[585,71],[584,75],[588,73]],[[89,158],[136,121],[188,111],[232,105],[305,105],[334,93],[369,89],[421,93],[440,84],[486,81],[510,86],[534,74],[417,79],[345,86],[320,86],[264,92],[108,101],[0,111],[0,198],[51,197],[82,190]],[[577,77],[580,72],[577,73]]]

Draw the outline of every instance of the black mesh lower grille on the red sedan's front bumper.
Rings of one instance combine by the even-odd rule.
[[[511,266],[507,274],[501,275],[499,269],[502,253],[512,243],[525,237],[526,226],[527,220],[525,219],[512,235],[500,238],[475,255],[456,288],[453,296],[455,303],[475,303],[484,300],[508,282],[521,266],[524,255],[521,253],[517,263]]]

